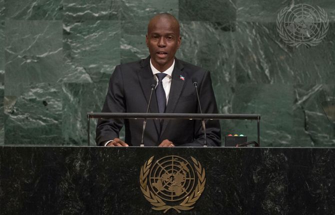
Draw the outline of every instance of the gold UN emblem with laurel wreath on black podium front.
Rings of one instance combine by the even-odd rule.
[[[166,156],[152,163],[154,156],[140,168],[139,183],[145,199],[155,211],[174,209],[178,213],[194,208],[206,183],[201,164],[192,165],[179,156]],[[193,170],[193,167],[195,172]]]

